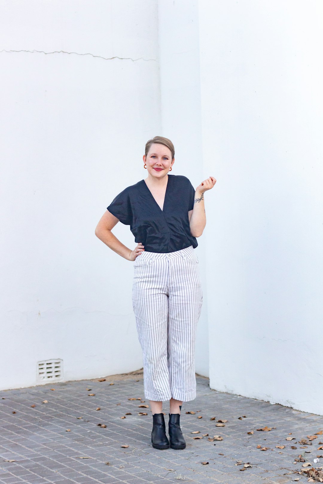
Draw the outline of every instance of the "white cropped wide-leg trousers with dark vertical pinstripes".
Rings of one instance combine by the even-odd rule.
[[[132,301],[146,399],[196,398],[195,336],[202,299],[192,245],[168,253],[143,251],[136,257]]]

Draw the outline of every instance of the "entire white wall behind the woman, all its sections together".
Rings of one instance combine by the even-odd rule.
[[[51,358],[65,380],[142,366],[133,267],[94,228],[162,135],[174,174],[217,179],[196,371],[323,414],[322,3],[13,1],[0,19],[0,389]]]

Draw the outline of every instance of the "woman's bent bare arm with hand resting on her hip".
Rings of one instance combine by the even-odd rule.
[[[134,250],[128,249],[116,236],[111,232],[112,228],[117,225],[119,219],[112,215],[108,210],[102,215],[99,223],[95,227],[95,235],[104,242],[110,249],[124,257],[127,260],[135,260],[138,254],[142,252],[143,245],[139,242]]]

